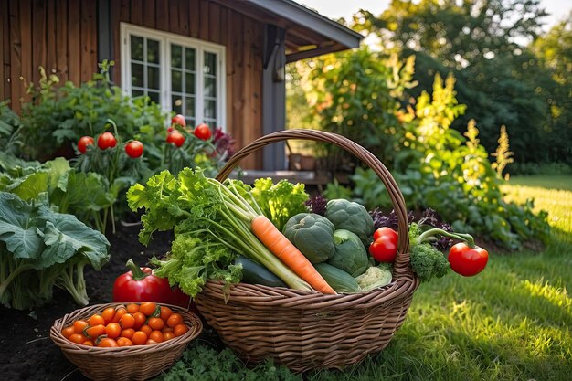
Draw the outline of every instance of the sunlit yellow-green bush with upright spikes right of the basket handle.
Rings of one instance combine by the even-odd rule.
[[[535,215],[532,201],[514,205],[503,200],[503,180],[479,143],[476,123],[469,123],[464,136],[449,128],[462,112],[453,88],[452,76],[443,83],[438,75],[432,95],[423,92],[415,109],[408,107],[399,113],[402,128],[396,138],[400,146],[389,166],[408,207],[433,208],[455,231],[509,249],[529,239],[546,241],[546,213]],[[385,186],[373,171],[357,168],[351,179],[353,197],[366,207],[391,207]],[[339,193],[336,188],[328,186],[325,195]]]

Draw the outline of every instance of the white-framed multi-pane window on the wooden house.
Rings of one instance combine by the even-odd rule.
[[[191,125],[224,120],[224,47],[139,26],[123,25],[122,33],[128,52],[123,86],[132,96],[147,95]]]

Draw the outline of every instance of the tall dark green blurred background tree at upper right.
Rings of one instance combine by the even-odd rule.
[[[373,16],[362,11],[355,28],[376,33],[402,58],[416,56],[417,97],[436,73],[457,78],[458,100],[467,105],[453,127],[479,122],[482,144],[494,152],[502,125],[514,160],[551,160],[546,113],[549,74],[524,43],[538,37],[546,12],[539,0],[394,0]],[[560,158],[562,159],[562,158]]]

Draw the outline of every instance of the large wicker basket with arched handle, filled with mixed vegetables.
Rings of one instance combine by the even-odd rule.
[[[271,357],[294,372],[341,368],[387,346],[418,288],[409,268],[407,209],[395,180],[376,156],[329,132],[290,130],[263,136],[238,151],[217,179],[224,180],[249,153],[286,139],[336,144],[365,162],[386,185],[399,233],[392,283],[366,293],[324,295],[244,283],[223,293],[221,283],[209,280],[196,305],[223,342],[249,361]]]

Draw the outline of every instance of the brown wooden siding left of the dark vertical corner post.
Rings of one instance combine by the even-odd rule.
[[[39,67],[60,83],[79,84],[97,70],[94,1],[6,0],[0,2],[0,100],[14,111],[29,101],[26,89],[40,79]]]

